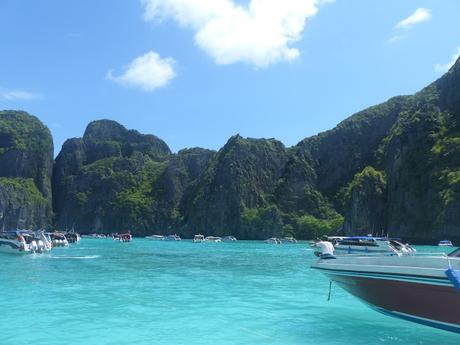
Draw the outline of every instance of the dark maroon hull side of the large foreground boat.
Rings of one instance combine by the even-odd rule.
[[[323,273],[383,314],[460,333],[460,292],[447,278],[379,277],[334,270]]]

